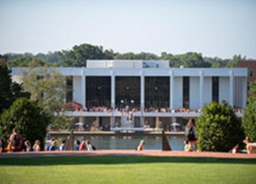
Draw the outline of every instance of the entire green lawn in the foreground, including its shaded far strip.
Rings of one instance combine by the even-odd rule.
[[[0,158],[0,183],[255,183],[256,159]]]

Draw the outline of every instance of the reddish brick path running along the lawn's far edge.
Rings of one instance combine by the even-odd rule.
[[[15,152],[0,153],[0,158],[30,158],[30,157],[55,157],[55,156],[157,156],[157,157],[198,157],[198,158],[255,158],[256,154],[232,154],[226,152],[162,152],[145,150],[99,150],[94,152],[86,151],[65,151],[65,152]]]

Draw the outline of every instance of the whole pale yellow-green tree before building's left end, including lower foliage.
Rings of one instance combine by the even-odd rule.
[[[66,130],[72,124],[72,118],[63,116],[63,99],[66,97],[66,77],[58,71],[44,68],[29,68],[23,71],[24,90],[31,93],[30,99],[37,102],[45,113],[52,118],[49,127],[52,130]],[[69,126],[68,126],[69,125]]]

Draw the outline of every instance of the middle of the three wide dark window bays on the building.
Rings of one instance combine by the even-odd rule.
[[[140,107],[140,77],[116,77],[116,107]]]

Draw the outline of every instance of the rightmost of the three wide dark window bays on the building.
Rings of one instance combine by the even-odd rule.
[[[170,77],[145,77],[145,107],[170,107]]]

